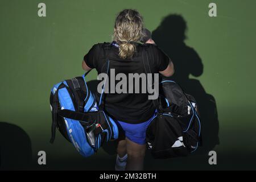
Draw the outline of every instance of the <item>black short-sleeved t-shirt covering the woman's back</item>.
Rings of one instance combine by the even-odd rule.
[[[152,100],[148,100],[147,75],[142,60],[143,49],[148,49],[148,63],[151,73],[159,73],[167,68],[169,57],[153,44],[136,43],[136,52],[130,59],[119,56],[118,44],[95,44],[84,56],[90,68],[96,68],[98,74],[106,73],[109,59],[109,82],[106,82],[105,110],[119,121],[141,123],[154,114]],[[147,51],[147,52],[148,52]],[[98,93],[99,94],[99,93]]]

